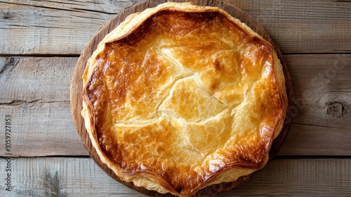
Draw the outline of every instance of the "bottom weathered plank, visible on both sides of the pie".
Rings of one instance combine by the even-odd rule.
[[[0,196],[143,196],[116,182],[91,158],[0,160]],[[218,196],[350,196],[350,158],[279,158],[248,182]]]

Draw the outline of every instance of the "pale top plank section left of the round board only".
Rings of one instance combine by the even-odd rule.
[[[138,1],[0,2],[0,54],[80,54],[102,25]]]

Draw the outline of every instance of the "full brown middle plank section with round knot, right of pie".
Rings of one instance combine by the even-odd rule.
[[[295,93],[281,155],[350,155],[351,55],[286,56]]]

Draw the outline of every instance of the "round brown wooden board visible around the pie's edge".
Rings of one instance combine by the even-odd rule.
[[[147,189],[135,186],[131,182],[121,181],[121,179],[119,179],[119,177],[117,177],[116,174],[114,174],[114,172],[110,170],[110,168],[108,168],[105,164],[101,162],[100,158],[98,157],[98,154],[96,153],[95,149],[91,145],[91,139],[89,138],[88,133],[86,132],[86,128],[84,126],[84,119],[81,116],[81,109],[82,109],[81,90],[83,88],[81,76],[84,73],[84,69],[86,67],[86,62],[88,58],[92,55],[93,51],[95,51],[99,42],[105,37],[106,34],[108,34],[115,27],[117,27],[117,25],[119,25],[119,23],[124,21],[124,19],[131,13],[140,12],[145,10],[146,8],[152,8],[165,2],[167,1],[166,0],[143,1],[143,2],[140,2],[139,4],[135,4],[134,6],[124,9],[124,11],[121,11],[121,13],[117,14],[116,16],[114,16],[114,18],[109,20],[92,37],[91,41],[88,42],[87,46],[84,48],[84,51],[81,53],[81,56],[77,62],[77,67],[74,70],[74,75],[72,77],[72,84],[71,84],[70,96],[71,96],[72,117],[77,129],[77,132],[79,134],[79,137],[82,143],[84,144],[84,146],[86,147],[86,150],[91,155],[91,158],[93,158],[95,163],[97,163],[102,168],[102,170],[104,170],[107,174],[109,174],[110,177],[116,179],[118,182],[121,182],[122,184],[130,187],[131,189],[134,189],[135,191],[144,193],[147,196],[173,196],[173,195],[169,193],[160,194],[160,193],[157,193],[156,191],[149,191]],[[178,1],[178,2],[185,2],[185,1]],[[230,13],[230,15],[232,15],[234,18],[238,18],[239,20],[241,20],[241,22],[244,22],[246,23],[246,25],[249,25],[249,27],[251,27],[251,29],[253,29],[255,32],[258,32],[258,34],[260,34],[260,36],[262,36],[268,42],[270,42],[274,46],[274,49],[277,51],[277,55],[284,67],[284,75],[286,78],[286,93],[289,99],[289,108],[288,108],[288,111],[286,112],[286,120],[284,122],[284,127],[282,129],[282,132],[279,134],[279,136],[277,136],[277,139],[273,141],[272,148],[270,150],[270,159],[272,159],[274,155],[276,155],[276,153],[279,151],[279,148],[282,146],[282,144],[286,139],[286,135],[288,134],[290,125],[291,125],[291,114],[293,110],[293,89],[291,86],[291,77],[289,75],[289,71],[286,67],[286,63],[284,61],[281,51],[279,50],[277,44],[274,43],[274,41],[267,33],[267,31],[256,20],[254,20],[250,15],[248,15],[247,13],[244,13],[244,11],[241,11],[239,8],[235,7],[234,5],[220,0],[190,1],[190,2],[199,6],[216,6],[216,7],[222,8],[223,10]],[[233,189],[235,186],[238,186],[239,184],[246,182],[246,180],[249,179],[249,177],[250,175],[246,177],[240,177],[237,180],[237,182],[221,183],[221,184],[208,186],[204,189],[201,189],[201,191],[199,191],[196,196],[213,196],[216,193],[228,191],[230,189]]]

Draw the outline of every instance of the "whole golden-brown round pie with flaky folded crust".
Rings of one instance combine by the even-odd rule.
[[[287,108],[272,45],[220,8],[190,3],[129,15],[98,44],[83,84],[102,163],[176,196],[264,167]]]

